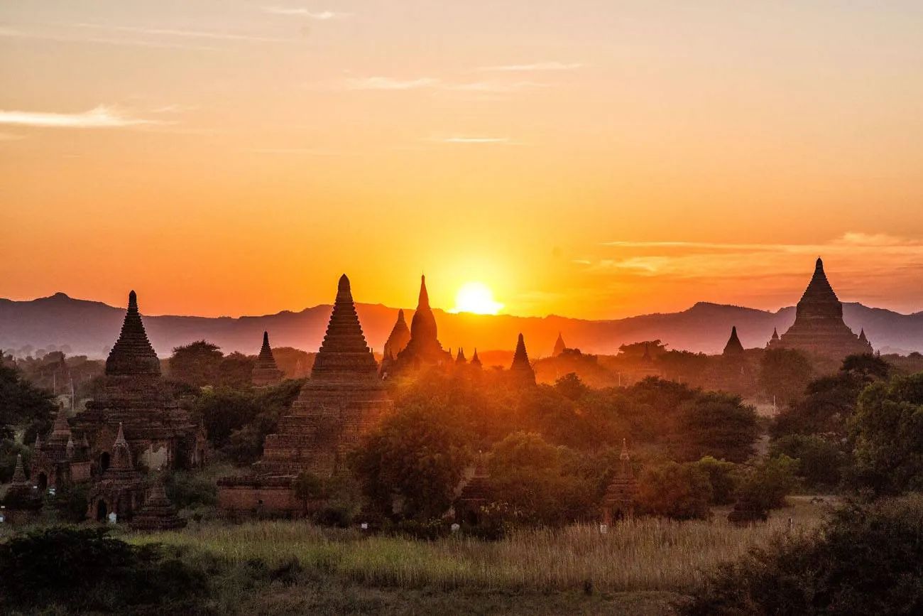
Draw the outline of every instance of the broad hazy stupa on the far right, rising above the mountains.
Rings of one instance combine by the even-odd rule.
[[[770,348],[791,348],[818,356],[843,358],[871,353],[868,340],[862,340],[843,321],[843,304],[833,292],[819,257],[808,288],[797,304],[795,324]]]

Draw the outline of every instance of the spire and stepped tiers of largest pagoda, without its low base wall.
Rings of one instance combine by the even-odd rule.
[[[289,415],[266,437],[260,475],[294,475],[310,470],[330,476],[360,435],[390,410],[378,365],[366,345],[344,274],[327,335]]]

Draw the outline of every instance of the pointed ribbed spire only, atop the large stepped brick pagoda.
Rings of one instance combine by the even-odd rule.
[[[343,378],[377,379],[378,363],[366,344],[366,336],[355,311],[353,292],[346,274],[337,285],[324,342],[311,368],[312,379],[340,380]]]

